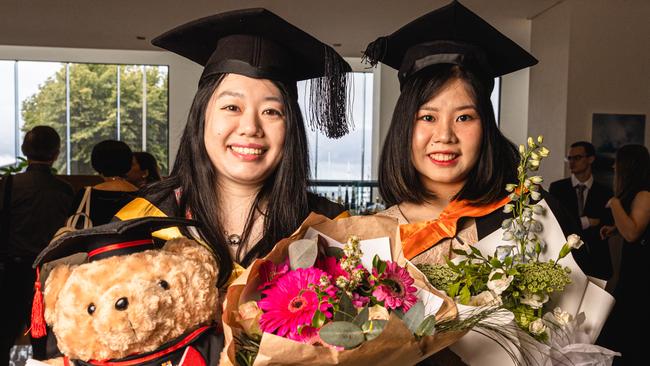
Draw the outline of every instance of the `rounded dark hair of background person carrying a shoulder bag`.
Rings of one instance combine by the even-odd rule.
[[[104,140],[93,147],[90,164],[104,177],[124,177],[131,170],[133,152],[117,140]]]

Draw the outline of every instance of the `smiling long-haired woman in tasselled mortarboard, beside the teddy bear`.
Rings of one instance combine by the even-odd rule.
[[[191,217],[220,264],[219,285],[233,261],[268,253],[315,211],[331,218],[340,205],[308,193],[305,123],[296,82],[310,84],[310,125],[329,137],[347,133],[346,72],[329,46],[265,9],[195,20],[153,44],[204,66],[174,168],[145,198],[117,216]]]

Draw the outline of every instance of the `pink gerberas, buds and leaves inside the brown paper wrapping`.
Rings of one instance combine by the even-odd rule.
[[[326,255],[320,254],[317,241],[303,239],[292,244],[285,262],[262,264],[261,299],[239,306],[246,334],[237,340],[239,364],[253,364],[263,332],[352,349],[379,336],[393,313],[416,338],[433,334],[435,315],[424,316],[406,268],[375,256],[367,270],[356,236],[342,250],[329,247]]]

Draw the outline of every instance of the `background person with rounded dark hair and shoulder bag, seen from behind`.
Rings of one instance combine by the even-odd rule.
[[[74,200],[71,214],[83,211],[81,204],[86,191],[90,189],[90,221],[92,226],[106,224],[113,216],[133,198],[138,187],[126,180],[131,170],[133,153],[122,141],[104,140],[95,147],[90,156],[90,163],[104,179],[92,188],[80,190]]]

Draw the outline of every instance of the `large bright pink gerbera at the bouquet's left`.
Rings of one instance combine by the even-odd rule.
[[[258,302],[264,312],[260,329],[299,342],[313,338],[310,328],[316,310],[328,318],[332,316],[329,311],[332,305],[317,293],[323,275],[327,276],[317,268],[299,268],[277,278],[271,287],[262,291],[265,297]]]

